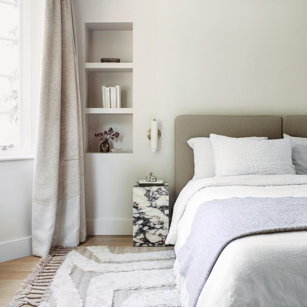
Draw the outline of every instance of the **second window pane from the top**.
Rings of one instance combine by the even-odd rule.
[[[0,75],[18,74],[18,43],[0,40]]]

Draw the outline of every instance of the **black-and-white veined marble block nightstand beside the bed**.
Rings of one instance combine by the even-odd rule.
[[[133,186],[133,246],[165,246],[169,233],[169,185]]]

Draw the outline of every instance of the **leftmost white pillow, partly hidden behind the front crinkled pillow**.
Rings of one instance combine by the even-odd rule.
[[[225,137],[227,138],[227,137]],[[248,139],[267,140],[266,137],[247,137]],[[214,154],[210,138],[190,138],[189,146],[194,153],[193,180],[215,176]]]

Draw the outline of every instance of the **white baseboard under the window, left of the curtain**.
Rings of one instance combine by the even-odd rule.
[[[0,262],[32,255],[32,237],[0,243]]]

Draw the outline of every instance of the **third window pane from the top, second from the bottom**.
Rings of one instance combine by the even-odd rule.
[[[0,77],[0,112],[18,111],[18,79]]]

